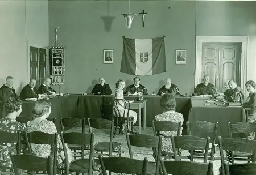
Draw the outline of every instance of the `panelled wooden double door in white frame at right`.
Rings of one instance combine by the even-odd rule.
[[[229,80],[241,85],[241,43],[204,43],[202,57],[202,78],[208,75],[218,92]]]

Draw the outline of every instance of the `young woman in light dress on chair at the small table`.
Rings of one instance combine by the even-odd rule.
[[[114,93],[114,100],[115,99],[123,99],[123,88],[125,88],[125,80],[118,80],[117,83],[115,83],[115,93]],[[128,113],[128,109],[125,109],[125,104],[123,101],[119,101],[117,103],[117,108],[120,112],[120,114],[124,114],[124,116],[121,117],[127,117],[127,113]],[[115,109],[113,109],[113,114],[115,116]],[[133,110],[129,110],[129,116],[133,117],[133,124],[136,123],[137,121],[137,113]],[[129,130],[131,131],[131,126],[129,128]],[[135,133],[134,131],[132,131],[132,133]]]

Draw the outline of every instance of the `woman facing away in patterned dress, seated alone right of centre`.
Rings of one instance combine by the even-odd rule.
[[[155,121],[171,121],[175,123],[179,123],[179,122],[183,123],[184,121],[183,115],[175,111],[176,101],[173,95],[171,95],[170,93],[165,93],[164,95],[162,95],[160,97],[160,106],[163,109],[163,113],[156,115]],[[180,135],[181,133],[182,133],[182,127],[180,130]],[[176,136],[177,131],[160,131],[159,134],[164,136],[171,136],[171,135]],[[172,142],[171,142],[171,138],[164,138],[164,136],[162,139],[161,154],[168,156],[170,155],[171,152],[173,152]],[[153,149],[153,151],[154,151],[153,156],[156,157],[156,150]]]

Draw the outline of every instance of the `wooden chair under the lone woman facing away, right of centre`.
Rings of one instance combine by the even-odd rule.
[[[180,136],[181,126],[182,126],[182,122],[176,123],[176,122],[171,122],[171,121],[152,121],[154,135],[155,136],[161,135],[163,138],[171,139],[171,135],[168,136],[168,135],[160,134],[161,131],[168,131],[168,132],[176,131],[177,134],[174,136]],[[171,145],[170,145],[170,147],[171,147]],[[179,152],[179,155],[180,154],[181,154],[181,152]],[[161,151],[161,157],[164,157],[165,159],[168,157],[174,158],[174,152]]]

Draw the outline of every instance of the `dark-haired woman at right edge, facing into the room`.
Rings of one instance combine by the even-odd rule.
[[[256,83],[252,80],[249,80],[245,83],[246,89],[250,92],[247,101],[242,105],[243,108],[254,109],[256,107]],[[248,121],[256,122],[256,110],[248,111]]]

